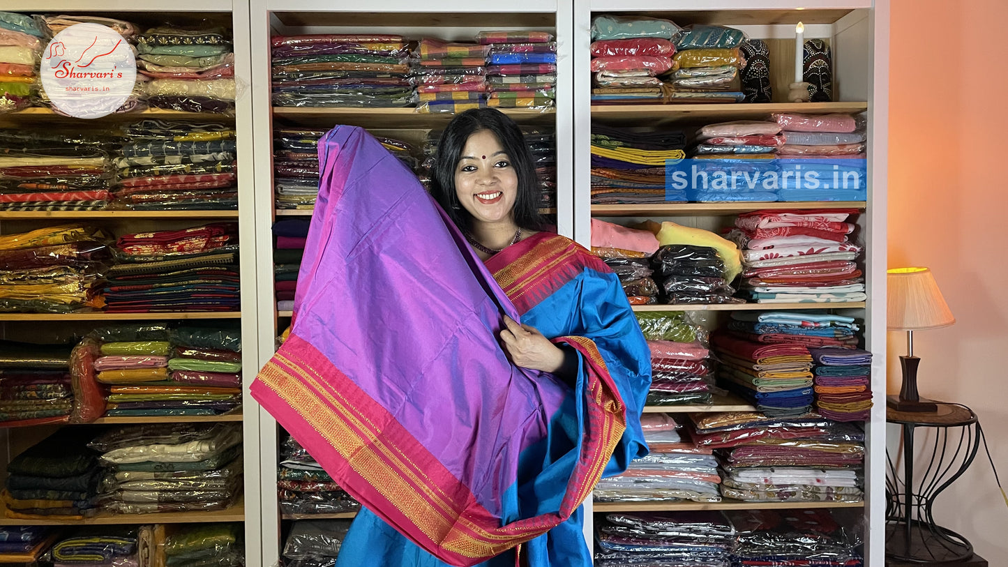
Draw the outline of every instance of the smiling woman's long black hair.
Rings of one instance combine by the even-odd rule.
[[[455,190],[455,170],[469,137],[483,130],[497,136],[518,175],[514,222],[522,229],[538,230],[542,226],[542,217],[539,215],[539,184],[532,154],[518,125],[497,109],[467,110],[449,123],[437,144],[437,159],[430,175],[430,192],[456,227],[463,231],[472,230],[473,217],[459,202]]]

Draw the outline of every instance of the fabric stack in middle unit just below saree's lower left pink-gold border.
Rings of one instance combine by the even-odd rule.
[[[354,512],[360,504],[293,437],[280,448],[283,460],[277,470],[277,493],[284,514],[336,514]]]

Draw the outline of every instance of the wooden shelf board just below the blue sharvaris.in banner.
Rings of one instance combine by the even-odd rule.
[[[728,217],[753,210],[792,210],[806,208],[857,208],[863,200],[793,201],[793,202],[668,202],[660,204],[593,204],[595,217]]]

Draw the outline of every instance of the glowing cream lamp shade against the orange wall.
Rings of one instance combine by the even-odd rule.
[[[927,268],[892,268],[886,273],[889,330],[921,330],[956,322]]]

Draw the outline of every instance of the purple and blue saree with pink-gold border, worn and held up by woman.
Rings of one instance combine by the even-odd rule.
[[[558,565],[555,535],[590,557],[571,520],[646,453],[649,357],[618,279],[544,233],[484,266],[366,132],[338,126],[319,153],[293,326],[251,391],[366,507],[341,564],[513,565],[529,542]],[[558,337],[577,376],[514,367],[501,313]]]

